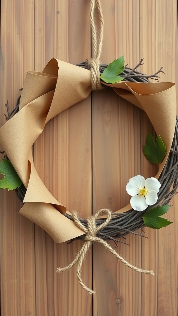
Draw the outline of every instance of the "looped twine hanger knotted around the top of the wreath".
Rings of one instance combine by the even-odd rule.
[[[97,28],[94,22],[94,13],[95,9],[98,11],[99,17],[99,37],[97,37]],[[92,90],[101,90],[103,89],[100,82],[100,55],[103,44],[103,29],[104,29],[104,20],[101,9],[101,3],[99,0],[90,1],[90,23],[91,23],[91,32],[92,32],[92,46],[93,46],[93,57],[88,61],[89,69],[91,70],[91,85]]]

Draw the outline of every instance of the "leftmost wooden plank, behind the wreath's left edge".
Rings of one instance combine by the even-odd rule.
[[[33,2],[1,1],[1,125],[6,100],[12,110],[26,71],[34,67],[33,21]],[[22,204],[15,192],[2,190],[0,199],[1,315],[36,315],[34,224],[18,214]]]

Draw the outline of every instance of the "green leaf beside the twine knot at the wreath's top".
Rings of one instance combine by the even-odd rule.
[[[124,70],[124,56],[115,59],[107,68],[103,71],[100,78],[107,83],[116,83],[123,80],[123,77],[118,76],[122,74]]]

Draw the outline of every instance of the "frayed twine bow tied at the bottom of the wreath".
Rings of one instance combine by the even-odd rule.
[[[105,221],[103,223],[101,223],[99,226],[96,225],[96,220],[99,216],[103,216],[106,215],[107,217],[105,218]],[[88,249],[90,248],[90,246],[92,245],[93,242],[99,242],[100,244],[102,244],[103,246],[105,246],[106,249],[108,249],[116,258],[118,258],[121,262],[123,262],[127,267],[138,271],[138,272],[142,272],[142,273],[147,273],[147,274],[151,274],[151,275],[155,275],[153,273],[153,271],[150,270],[142,270],[140,268],[135,267],[134,265],[130,264],[129,262],[127,262],[124,258],[122,258],[105,240],[99,238],[97,236],[97,233],[102,230],[103,228],[105,228],[109,222],[111,221],[111,211],[108,209],[102,209],[99,210],[94,216],[90,216],[86,219],[87,222],[87,227],[85,227],[78,219],[77,217],[77,213],[74,212],[72,214],[73,217],[73,221],[75,222],[75,224],[82,229],[85,233],[86,236],[84,238],[85,243],[82,246],[81,250],[78,252],[78,254],[76,255],[76,257],[74,258],[73,262],[69,265],[67,265],[64,268],[57,268],[57,272],[63,272],[63,271],[67,271],[69,269],[71,269],[77,262],[78,262],[78,267],[77,267],[77,277],[78,277],[78,281],[80,283],[80,285],[82,286],[83,289],[85,289],[89,294],[93,294],[95,293],[92,289],[88,288],[86,286],[85,283],[83,283],[82,281],[82,277],[81,277],[81,267],[83,264],[83,261],[86,257],[86,254],[88,252]]]

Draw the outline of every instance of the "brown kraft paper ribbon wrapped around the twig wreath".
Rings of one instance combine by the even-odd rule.
[[[106,84],[143,109],[156,134],[166,144],[167,154],[159,166],[159,177],[166,163],[175,132],[176,97],[172,82]],[[56,243],[85,234],[65,217],[67,209],[48,191],[36,172],[32,146],[45,124],[91,92],[91,72],[78,66],[51,59],[43,72],[28,71],[19,112],[0,128],[0,143],[27,188],[19,211],[43,228]],[[130,210],[130,204],[116,213]]]

